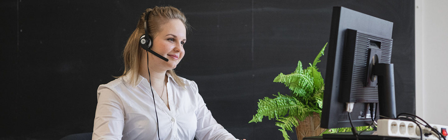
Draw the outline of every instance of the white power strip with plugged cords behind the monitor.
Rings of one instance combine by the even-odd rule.
[[[443,125],[435,125],[430,124],[431,127],[434,127],[439,131],[440,133],[447,131],[447,126]],[[420,139],[420,128],[417,126],[416,123],[411,121],[404,121],[404,120],[395,120],[395,119],[379,119],[378,120],[378,136],[392,136],[392,137],[403,137],[403,138],[414,138],[414,139]],[[424,126],[422,126],[422,129]],[[425,129],[423,129],[425,130]],[[426,132],[423,131],[425,134]],[[423,139],[426,140],[439,140],[439,136],[429,135],[424,136]],[[443,140],[443,138],[442,138]]]

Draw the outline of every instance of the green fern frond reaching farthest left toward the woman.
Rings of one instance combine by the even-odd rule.
[[[257,114],[253,116],[249,123],[261,122],[263,116],[267,116],[268,119],[278,119],[279,116],[283,117],[286,114],[297,116],[303,115],[309,111],[309,108],[292,96],[282,95],[280,93],[274,96],[276,98],[271,99],[265,97],[263,100],[259,100]]]

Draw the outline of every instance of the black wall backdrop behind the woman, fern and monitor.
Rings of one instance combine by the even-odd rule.
[[[415,112],[414,0],[3,0],[0,139],[92,132],[98,85],[121,75],[125,42],[156,5],[181,9],[194,27],[176,70],[237,138],[283,139],[273,120],[248,122],[258,99],[289,93],[274,77],[328,42],[333,6],[394,22],[397,112]]]

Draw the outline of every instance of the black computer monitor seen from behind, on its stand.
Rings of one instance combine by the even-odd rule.
[[[392,26],[349,8],[333,8],[321,127],[351,127],[348,106],[353,106],[354,127],[368,126],[374,116],[395,118]]]

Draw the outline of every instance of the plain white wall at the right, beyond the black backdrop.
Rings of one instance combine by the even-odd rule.
[[[415,0],[416,114],[448,126],[448,0]]]

